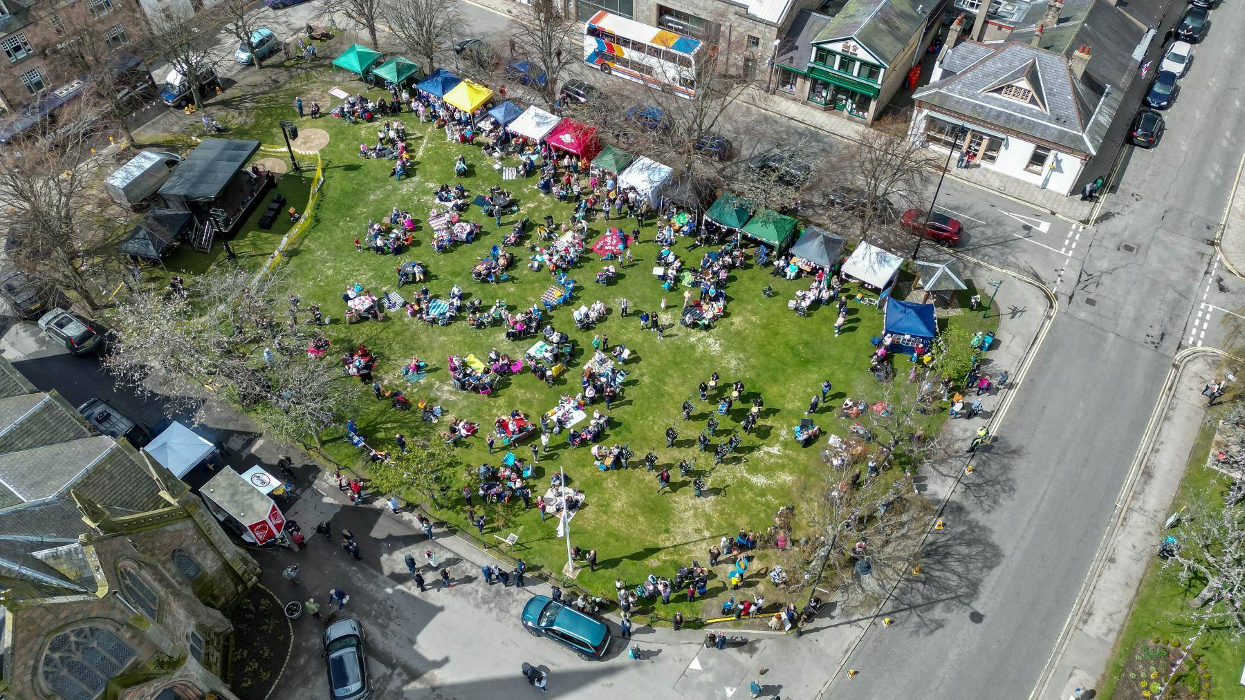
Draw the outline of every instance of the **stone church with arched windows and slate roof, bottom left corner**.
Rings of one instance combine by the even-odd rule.
[[[219,610],[258,572],[182,481],[0,359],[0,696],[234,698]]]

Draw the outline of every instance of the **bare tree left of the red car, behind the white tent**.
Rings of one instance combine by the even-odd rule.
[[[853,159],[864,182],[860,201],[860,234],[869,235],[875,223],[891,223],[891,206],[903,210],[921,199],[934,163],[920,142],[908,136],[910,119],[905,114],[885,117],[865,129],[855,142]]]

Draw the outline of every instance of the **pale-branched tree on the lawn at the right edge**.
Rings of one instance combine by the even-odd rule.
[[[1201,586],[1189,615],[1234,639],[1245,635],[1245,504],[1199,495],[1182,517],[1178,540],[1164,550],[1162,568],[1182,586]]]

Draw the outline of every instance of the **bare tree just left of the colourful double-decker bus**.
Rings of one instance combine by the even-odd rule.
[[[555,0],[532,0],[515,20],[510,56],[528,60],[533,78],[528,87],[535,90],[552,109],[558,101],[563,71],[583,60],[581,25],[566,15]]]

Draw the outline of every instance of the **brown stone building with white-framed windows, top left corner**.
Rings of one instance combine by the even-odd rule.
[[[93,37],[96,60],[111,63],[148,30],[138,0],[0,0],[0,116],[27,106],[44,116],[83,92],[81,66],[66,46],[82,32]]]

